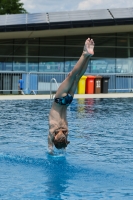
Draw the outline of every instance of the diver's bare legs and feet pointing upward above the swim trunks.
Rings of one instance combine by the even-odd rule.
[[[93,49],[94,42],[92,39],[90,40],[90,38],[88,38],[85,42],[85,48],[80,59],[78,60],[72,71],[68,74],[66,79],[59,86],[55,97],[59,98],[65,96],[74,84],[76,77],[78,75],[80,76],[81,72],[83,73],[84,71],[86,71],[86,62],[89,60],[90,56],[94,54]]]

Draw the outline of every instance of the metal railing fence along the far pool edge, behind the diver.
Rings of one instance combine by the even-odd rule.
[[[133,92],[133,73],[103,73],[98,75],[109,77],[109,92]],[[67,73],[2,71],[0,72],[0,94],[19,94],[18,81],[20,76],[24,80],[24,94],[49,94],[56,92]],[[53,81],[54,83],[52,83]]]

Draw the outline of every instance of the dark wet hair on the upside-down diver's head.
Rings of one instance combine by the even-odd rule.
[[[62,149],[62,148],[67,147],[67,145],[70,143],[70,141],[67,141],[66,136],[62,136],[56,140],[54,138],[53,143],[57,149]]]

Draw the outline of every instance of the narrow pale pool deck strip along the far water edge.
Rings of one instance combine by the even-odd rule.
[[[133,93],[75,94],[74,98],[133,98]],[[50,95],[0,95],[0,100],[23,99],[50,99]]]

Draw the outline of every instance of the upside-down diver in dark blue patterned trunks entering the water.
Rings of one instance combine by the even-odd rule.
[[[68,136],[67,107],[71,104],[77,84],[85,73],[89,59],[94,55],[94,41],[85,41],[83,52],[78,62],[59,86],[49,113],[49,153],[53,153],[53,146],[57,149],[66,148],[70,141]]]

